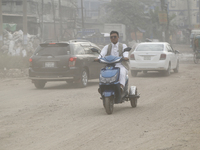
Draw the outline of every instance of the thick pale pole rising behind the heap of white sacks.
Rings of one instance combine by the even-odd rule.
[[[27,0],[23,0],[23,44],[27,46]]]

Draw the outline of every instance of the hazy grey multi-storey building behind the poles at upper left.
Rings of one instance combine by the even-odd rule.
[[[68,0],[60,2],[61,7],[59,0],[43,0],[43,5],[42,0],[27,0],[28,33],[40,36],[43,33],[44,39],[57,39],[61,36],[72,38],[76,3]],[[16,30],[23,31],[23,0],[2,0],[2,12],[4,24],[15,24]]]

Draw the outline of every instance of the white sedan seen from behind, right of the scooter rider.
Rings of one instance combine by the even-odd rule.
[[[130,70],[134,77],[141,71],[160,71],[169,76],[172,69],[175,73],[179,70],[179,51],[169,43],[140,43],[130,55]]]

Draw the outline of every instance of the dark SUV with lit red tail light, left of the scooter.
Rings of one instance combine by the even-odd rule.
[[[48,81],[67,81],[86,87],[89,79],[99,77],[102,65],[94,63],[100,48],[85,40],[48,42],[39,45],[29,59],[29,78],[36,88],[44,88]]]

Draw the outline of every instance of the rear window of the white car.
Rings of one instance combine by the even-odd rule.
[[[142,44],[138,45],[136,51],[163,51],[163,44]]]

